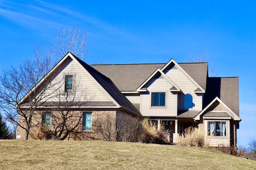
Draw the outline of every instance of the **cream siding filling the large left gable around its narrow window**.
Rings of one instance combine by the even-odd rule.
[[[110,102],[109,96],[100,88],[97,82],[82,68],[76,61],[68,58],[60,65],[57,75],[52,80],[53,86],[46,90],[45,98],[48,102],[59,101],[58,97],[65,100],[67,93],[64,92],[65,75],[72,75],[72,92],[68,93],[68,101],[91,101],[91,102]],[[58,90],[56,90],[58,89]],[[54,97],[58,96],[58,97]]]

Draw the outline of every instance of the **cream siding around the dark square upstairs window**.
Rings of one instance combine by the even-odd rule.
[[[176,116],[177,115],[177,94],[170,92],[172,84],[160,76],[152,79],[146,84],[148,92],[141,93],[141,113],[143,116]],[[166,93],[165,107],[151,107],[152,92]]]

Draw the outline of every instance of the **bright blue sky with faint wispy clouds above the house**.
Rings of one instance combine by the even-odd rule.
[[[89,64],[185,62],[208,53],[239,76],[238,143],[256,137],[256,2],[0,0],[0,70],[50,44],[63,26],[88,31]]]

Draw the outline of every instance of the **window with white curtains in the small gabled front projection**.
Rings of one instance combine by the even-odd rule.
[[[208,136],[226,136],[226,122],[208,122]]]

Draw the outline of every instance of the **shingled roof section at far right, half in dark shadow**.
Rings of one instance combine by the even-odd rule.
[[[239,116],[238,77],[209,77],[203,107],[206,107],[216,97],[220,98],[226,106]]]

